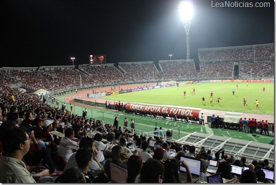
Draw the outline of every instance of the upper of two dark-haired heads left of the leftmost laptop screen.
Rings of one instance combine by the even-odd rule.
[[[78,164],[78,168],[81,170],[85,177],[86,183],[91,183],[91,175],[88,174],[88,169],[90,168],[93,162],[93,151],[91,148],[81,148],[76,153],[76,162]]]

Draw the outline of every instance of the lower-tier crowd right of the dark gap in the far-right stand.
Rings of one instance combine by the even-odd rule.
[[[252,69],[252,70],[251,70]],[[275,67],[274,61],[243,61],[240,62],[240,75],[250,76],[252,75],[263,77],[263,76],[274,76]]]

